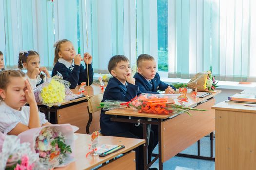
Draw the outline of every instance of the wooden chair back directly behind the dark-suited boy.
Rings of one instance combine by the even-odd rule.
[[[100,102],[103,99],[103,93],[97,94],[92,96],[88,100],[88,114],[89,114],[89,119],[88,123],[86,125],[86,133],[90,134],[90,125],[93,124],[93,131],[99,130],[100,129],[100,124],[99,124],[99,119],[100,119],[100,110],[101,108],[96,108],[100,105]]]

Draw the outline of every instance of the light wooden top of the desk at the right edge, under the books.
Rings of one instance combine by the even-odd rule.
[[[212,109],[215,110],[226,110],[226,111],[235,111],[235,112],[250,112],[256,113],[256,107],[244,106],[246,103],[236,103],[236,102],[220,102],[214,106]]]

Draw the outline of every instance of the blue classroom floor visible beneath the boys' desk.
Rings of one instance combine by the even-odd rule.
[[[200,142],[201,156],[210,156],[210,137],[204,137]],[[215,146],[215,140],[214,140]],[[214,148],[215,151],[215,148]],[[158,153],[158,146],[155,148],[153,153]],[[197,155],[197,142],[182,151],[181,153]],[[214,152],[215,156],[215,152]],[[214,170],[214,161],[183,158],[183,157],[173,157],[163,164],[164,170]],[[152,167],[158,168],[158,160],[152,165]]]

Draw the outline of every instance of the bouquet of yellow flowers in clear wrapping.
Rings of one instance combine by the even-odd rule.
[[[61,105],[62,102],[70,101],[79,97],[70,89],[70,82],[63,80],[62,75],[58,72],[48,81],[37,86],[34,89],[35,99],[38,104],[47,105]]]

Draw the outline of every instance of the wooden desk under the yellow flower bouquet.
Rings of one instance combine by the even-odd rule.
[[[75,94],[78,93],[80,86],[77,86],[75,89],[71,91]],[[92,96],[94,94],[102,93],[99,85],[90,85],[85,86],[84,95]],[[47,107],[45,105],[39,105],[38,108],[40,112],[45,113],[46,119],[53,124],[65,124],[70,123],[72,125],[78,126],[78,133],[86,133],[86,126],[89,119],[88,115],[88,98],[82,97],[79,99],[75,99],[68,102],[62,102],[59,106],[54,105],[52,107]],[[96,127],[94,128],[94,124],[91,125],[92,129],[98,130]]]

